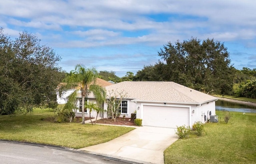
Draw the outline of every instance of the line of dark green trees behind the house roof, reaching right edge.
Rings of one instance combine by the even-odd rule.
[[[154,65],[144,65],[136,75],[131,72],[117,78],[113,71],[102,77],[119,81],[174,81],[204,93],[256,98],[256,69],[237,70],[231,64],[224,43],[213,39],[168,42],[158,52]],[[109,78],[110,79],[110,78]]]

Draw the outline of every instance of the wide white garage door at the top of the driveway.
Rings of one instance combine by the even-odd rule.
[[[176,128],[189,122],[189,108],[143,105],[143,125]]]

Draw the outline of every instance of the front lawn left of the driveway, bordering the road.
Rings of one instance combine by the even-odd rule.
[[[0,115],[0,139],[83,148],[112,140],[134,128],[80,123],[52,123],[53,111],[34,109],[26,115]]]

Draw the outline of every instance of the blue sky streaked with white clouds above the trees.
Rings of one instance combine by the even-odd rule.
[[[236,69],[256,68],[255,0],[1,0],[0,27],[26,30],[76,64],[126,72],[154,65],[168,42],[191,37],[224,43]]]

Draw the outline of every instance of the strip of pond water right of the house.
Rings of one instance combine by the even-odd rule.
[[[215,102],[215,109],[217,111],[233,111],[243,113],[256,113],[256,107],[251,105],[244,105],[239,103],[233,103],[229,101],[218,100]]]

